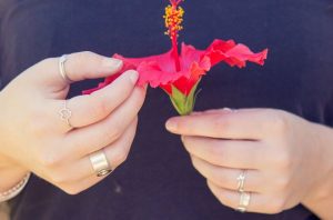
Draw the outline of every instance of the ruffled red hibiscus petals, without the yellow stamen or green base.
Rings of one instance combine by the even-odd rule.
[[[221,61],[226,62],[231,67],[245,67],[246,61],[263,64],[268,57],[268,49],[259,53],[253,53],[246,46],[236,44],[233,40],[214,40],[205,50],[196,50],[192,46],[182,44],[180,57],[181,71],[175,70],[172,50],[163,54],[150,56],[145,58],[124,58],[114,54],[123,61],[123,68],[120,73],[105,78],[104,82],[98,88],[83,91],[91,93],[111,83],[117,77],[127,70],[135,69],[140,77],[138,84],[150,83],[151,87],[161,87],[171,94],[171,84],[175,86],[184,94],[189,94],[193,86],[200,78],[210,70],[211,67]]]

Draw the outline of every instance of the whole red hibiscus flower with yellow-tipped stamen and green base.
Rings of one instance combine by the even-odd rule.
[[[225,62],[231,67],[244,68],[246,61],[264,64],[268,49],[254,53],[246,46],[233,40],[214,40],[205,50],[198,50],[193,46],[182,43],[179,52],[178,36],[182,30],[184,10],[179,6],[181,0],[170,0],[165,8],[165,34],[171,39],[172,48],[167,53],[144,58],[125,58],[114,54],[113,58],[123,61],[120,74],[129,69],[135,69],[140,77],[138,84],[149,83],[152,88],[160,87],[170,97],[175,110],[180,114],[193,111],[195,90],[202,78],[213,66]],[[98,88],[87,90],[91,93],[111,83],[117,77],[112,76],[100,83]]]

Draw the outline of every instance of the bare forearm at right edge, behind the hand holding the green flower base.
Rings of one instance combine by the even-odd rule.
[[[322,150],[317,162],[322,166],[319,172],[324,172],[324,178],[319,180],[314,189],[303,200],[303,204],[321,219],[333,219],[333,129],[317,127],[317,146]],[[304,180],[306,181],[306,180]]]

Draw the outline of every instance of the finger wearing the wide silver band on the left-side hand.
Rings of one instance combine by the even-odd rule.
[[[125,129],[124,133],[114,143],[103,148],[103,152],[107,156],[108,162],[112,170],[117,169],[129,154],[131,144],[133,142],[138,119],[135,118],[131,124]],[[70,184],[75,181],[84,180],[89,177],[95,177],[95,171],[92,168],[89,154],[71,161],[71,164],[63,164],[56,171],[57,176],[60,177],[58,182]],[[93,178],[98,179],[98,178]]]

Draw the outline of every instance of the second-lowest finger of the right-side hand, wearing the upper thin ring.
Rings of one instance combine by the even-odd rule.
[[[215,186],[229,190],[239,190],[238,178],[243,173],[239,169],[223,168],[219,166],[211,164],[195,156],[192,156],[192,163],[194,168],[209,181],[213,182]],[[251,192],[262,192],[261,190],[261,176],[258,170],[245,170],[245,181],[244,188],[245,191]]]

